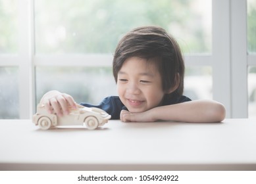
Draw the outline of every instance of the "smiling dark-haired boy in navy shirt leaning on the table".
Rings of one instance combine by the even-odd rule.
[[[107,97],[99,105],[112,119],[123,122],[220,122],[225,108],[216,101],[191,101],[182,95],[184,60],[178,43],[163,28],[146,26],[124,35],[113,59],[118,97]],[[43,95],[49,112],[68,114],[74,99],[59,91]]]

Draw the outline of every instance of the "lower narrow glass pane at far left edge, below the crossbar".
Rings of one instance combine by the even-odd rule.
[[[0,109],[0,119],[19,118],[17,67],[0,67]]]

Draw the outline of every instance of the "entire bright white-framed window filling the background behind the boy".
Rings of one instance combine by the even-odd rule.
[[[162,26],[176,37],[185,56],[185,95],[220,101],[227,118],[253,117],[255,4],[0,0],[0,24],[5,25],[0,26],[0,109],[11,104],[13,111],[0,118],[31,118],[51,89],[93,104],[116,95],[111,70],[116,44],[145,25]]]

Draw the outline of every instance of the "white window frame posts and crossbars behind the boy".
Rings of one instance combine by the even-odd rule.
[[[247,68],[256,66],[256,55],[247,55],[247,1],[213,0],[212,4],[212,53],[185,55],[185,63],[211,66],[213,99],[226,106],[226,118],[247,118]],[[18,53],[0,55],[0,66],[19,68],[20,119],[30,119],[35,112],[37,66],[111,66],[113,59],[111,54],[35,55],[34,30],[34,0],[18,1]]]

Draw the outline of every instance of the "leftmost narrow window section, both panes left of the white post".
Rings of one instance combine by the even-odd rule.
[[[19,117],[18,67],[12,66],[18,53],[17,6],[14,0],[0,1],[0,118]]]

